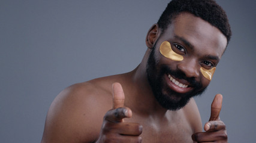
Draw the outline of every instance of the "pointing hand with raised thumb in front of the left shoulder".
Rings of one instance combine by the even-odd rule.
[[[141,142],[139,136],[142,126],[138,123],[124,122],[124,118],[132,117],[132,111],[124,107],[125,95],[120,83],[113,83],[113,109],[107,111],[104,116],[100,136],[100,142]]]

